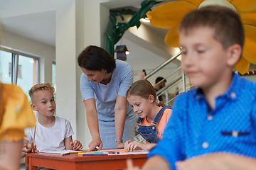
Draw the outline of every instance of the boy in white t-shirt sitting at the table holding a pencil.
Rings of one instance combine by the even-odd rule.
[[[73,142],[72,135],[74,132],[70,122],[54,115],[54,91],[55,89],[49,83],[36,84],[29,90],[32,101],[31,108],[33,111],[38,111],[39,116],[36,120],[36,130],[35,128],[25,130],[26,137],[23,140],[25,145],[23,152],[82,149],[82,144],[78,140]],[[34,135],[34,132],[36,132],[36,135]],[[31,142],[30,146],[28,146],[28,142]]]

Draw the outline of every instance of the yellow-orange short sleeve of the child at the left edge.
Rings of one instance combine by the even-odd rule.
[[[24,130],[36,125],[36,116],[26,94],[18,86],[0,86],[0,90],[4,90],[0,106],[0,140],[22,140],[25,137]]]

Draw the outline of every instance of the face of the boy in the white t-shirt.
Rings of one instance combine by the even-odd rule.
[[[53,116],[55,112],[55,101],[53,92],[49,90],[36,91],[33,94],[31,107],[43,116]]]

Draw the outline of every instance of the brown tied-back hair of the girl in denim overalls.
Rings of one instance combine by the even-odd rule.
[[[129,96],[140,96],[142,98],[148,99],[150,95],[154,96],[154,103],[157,106],[164,107],[164,103],[159,101],[156,96],[156,89],[147,80],[138,80],[132,84],[132,86],[127,91],[127,97]]]

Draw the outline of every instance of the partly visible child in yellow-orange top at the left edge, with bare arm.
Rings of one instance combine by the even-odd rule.
[[[36,116],[21,88],[0,82],[0,169],[19,169],[24,130],[35,123]]]

